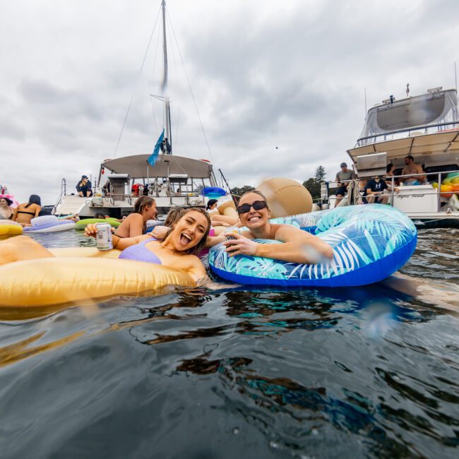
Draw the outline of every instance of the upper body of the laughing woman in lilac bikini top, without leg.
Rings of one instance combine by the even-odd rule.
[[[155,239],[151,234],[126,238],[113,234],[113,246],[122,250],[119,258],[183,270],[196,284],[204,285],[209,279],[196,254],[204,248],[209,231],[210,218],[205,210],[189,208],[183,210],[181,217],[167,229],[163,240]],[[95,225],[85,228],[86,236],[95,237],[96,232]]]

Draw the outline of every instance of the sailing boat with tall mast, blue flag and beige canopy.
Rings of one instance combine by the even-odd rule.
[[[55,214],[76,213],[81,217],[93,217],[96,213],[104,213],[121,217],[132,212],[138,198],[150,196],[155,198],[160,215],[164,215],[175,206],[204,206],[205,187],[219,186],[229,191],[221,172],[217,181],[209,160],[173,154],[170,99],[165,93],[168,80],[165,6],[166,2],[162,0],[162,95],[154,96],[163,104],[163,129],[154,150],[151,149],[153,154],[103,161],[90,198],[76,195],[73,186],[67,190],[66,179],[63,179],[61,196],[54,206]]]

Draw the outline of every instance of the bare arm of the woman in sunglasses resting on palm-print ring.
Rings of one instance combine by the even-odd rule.
[[[279,225],[275,239],[284,244],[258,244],[235,234],[236,241],[227,241],[229,256],[251,255],[274,258],[291,263],[320,263],[333,258],[333,249],[317,236],[290,225]]]

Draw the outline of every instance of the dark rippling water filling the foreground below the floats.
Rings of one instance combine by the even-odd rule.
[[[407,293],[170,290],[2,322],[1,458],[458,457],[458,237],[419,233]]]

